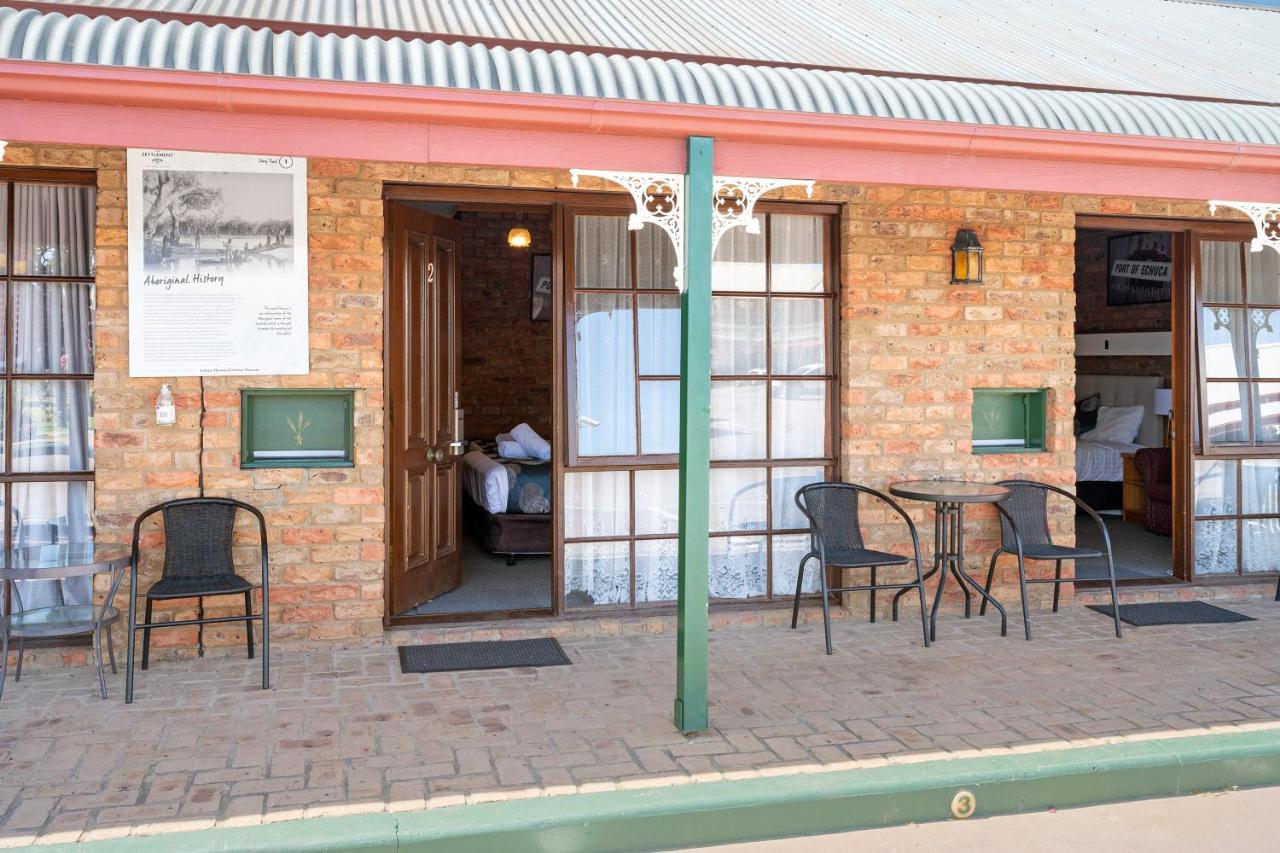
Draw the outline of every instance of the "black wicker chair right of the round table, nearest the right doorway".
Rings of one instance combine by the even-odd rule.
[[[1116,625],[1116,637],[1120,637],[1120,605],[1116,601],[1116,566],[1111,556],[1111,535],[1102,517],[1093,511],[1084,501],[1048,483],[1036,480],[1002,480],[998,485],[1009,489],[1009,500],[997,503],[1000,510],[1000,547],[991,555],[991,567],[987,570],[986,589],[991,592],[991,581],[996,576],[996,561],[1000,555],[1009,553],[1018,557],[1018,583],[1021,588],[1023,598],[1023,626],[1027,639],[1032,638],[1032,621],[1027,606],[1027,584],[1053,584],[1053,612],[1057,612],[1059,594],[1062,584],[1075,583],[1074,578],[1062,579],[1062,562],[1065,560],[1093,560],[1106,557],[1107,580],[1111,584],[1111,615]],[[1053,543],[1053,537],[1048,530],[1048,496],[1061,494],[1071,501],[1078,510],[1093,519],[1102,533],[1102,542],[1106,551],[1093,548],[1069,548]],[[1052,578],[1027,579],[1024,562],[1027,560],[1052,560],[1055,564]],[[987,612],[987,602],[982,602],[979,613]]]

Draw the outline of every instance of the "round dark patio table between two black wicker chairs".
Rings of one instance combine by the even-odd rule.
[[[933,597],[933,607],[929,611],[929,639],[938,638],[938,605],[942,603],[942,590],[947,584],[947,575],[955,575],[964,593],[964,617],[970,616],[969,587],[973,587],[979,596],[986,598],[1000,611],[1000,635],[1009,631],[1009,617],[998,601],[982,588],[977,580],[964,570],[964,508],[970,503],[995,503],[997,510],[1002,510],[1001,501],[1009,498],[1009,489],[991,483],[977,483],[972,480],[905,480],[888,487],[888,493],[909,501],[925,501],[934,505],[933,514],[933,567],[924,575],[928,580],[938,575],[938,592]],[[897,616],[897,599],[902,592],[893,596],[893,615]]]

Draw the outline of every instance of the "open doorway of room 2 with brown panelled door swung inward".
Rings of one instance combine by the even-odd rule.
[[[552,223],[549,205],[388,205],[396,617],[552,612]]]

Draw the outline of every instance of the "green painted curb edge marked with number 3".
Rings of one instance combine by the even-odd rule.
[[[45,849],[622,853],[947,820],[951,799],[961,789],[974,794],[975,816],[983,817],[1275,784],[1280,784],[1280,730],[1240,731],[316,817]]]

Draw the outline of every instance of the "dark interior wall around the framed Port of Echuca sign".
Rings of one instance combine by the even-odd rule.
[[[1171,305],[1107,305],[1107,238],[1129,231],[1080,231],[1075,238],[1075,333],[1169,332]],[[1172,379],[1169,356],[1080,356],[1076,371]]]

